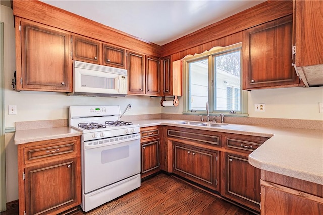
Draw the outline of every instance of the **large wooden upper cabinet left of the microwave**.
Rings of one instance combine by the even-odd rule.
[[[15,17],[16,89],[72,92],[69,32]]]

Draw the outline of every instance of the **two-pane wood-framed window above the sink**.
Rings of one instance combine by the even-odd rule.
[[[247,96],[241,87],[241,43],[215,47],[183,60],[184,113],[204,113],[209,102],[211,114],[234,111],[246,115]]]

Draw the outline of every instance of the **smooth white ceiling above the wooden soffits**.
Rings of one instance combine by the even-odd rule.
[[[265,2],[264,0],[41,1],[158,45],[169,43]]]

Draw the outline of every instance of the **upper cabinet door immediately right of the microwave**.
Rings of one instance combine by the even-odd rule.
[[[128,52],[128,80],[130,94],[144,94],[145,89],[145,57],[134,52]]]

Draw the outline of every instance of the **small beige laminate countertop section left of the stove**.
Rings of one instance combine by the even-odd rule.
[[[81,136],[82,133],[70,127],[39,128],[28,130],[17,130],[14,143],[27,144],[28,142],[43,141],[49,139]]]

